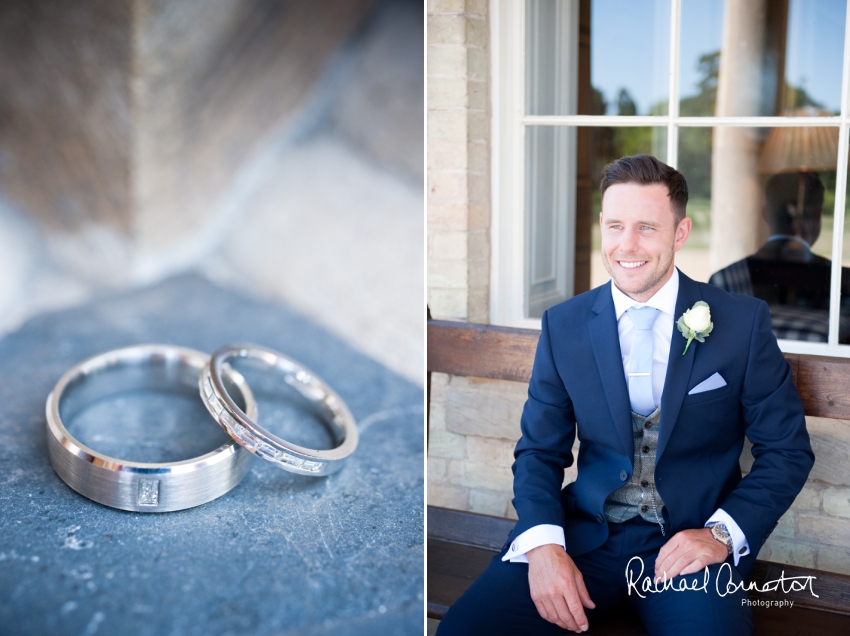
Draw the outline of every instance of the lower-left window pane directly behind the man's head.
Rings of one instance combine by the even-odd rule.
[[[525,315],[539,318],[594,276],[608,280],[597,271],[602,167],[623,155],[664,161],[667,129],[529,126],[525,141]]]

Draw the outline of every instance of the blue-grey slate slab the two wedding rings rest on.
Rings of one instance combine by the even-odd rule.
[[[164,514],[101,506],[53,472],[44,402],[69,367],[137,343],[233,341],[291,355],[345,399],[360,446],[341,472],[300,477],[255,459],[226,495]],[[99,414],[139,419],[139,396],[109,399],[81,425],[95,442]],[[157,399],[171,413],[161,422]],[[269,399],[258,396],[261,422],[292,426],[294,411]],[[303,316],[194,276],[42,315],[0,341],[0,403],[0,633],[422,633],[423,391]],[[154,424],[124,442],[147,430],[167,450],[156,433],[200,421],[199,404],[156,397]]]

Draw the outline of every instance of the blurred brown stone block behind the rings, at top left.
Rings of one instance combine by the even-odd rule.
[[[0,185],[51,230],[179,249],[376,4],[6,0]]]

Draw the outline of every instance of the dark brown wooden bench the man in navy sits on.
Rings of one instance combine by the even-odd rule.
[[[528,382],[539,331],[428,321],[428,398],[431,373]],[[850,419],[850,360],[785,354],[807,415]],[[441,619],[504,544],[514,522],[428,507],[428,616]],[[756,634],[850,634],[850,576],[756,561],[749,581],[760,588],[785,578],[813,576],[817,597],[804,592],[750,592],[751,599],[793,600],[792,607],[753,607]],[[624,609],[594,621],[589,633],[646,632]]]

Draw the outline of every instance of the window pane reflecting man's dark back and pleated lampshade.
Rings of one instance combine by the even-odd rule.
[[[765,300],[777,338],[827,341],[837,149],[837,127],[679,132],[694,229],[676,263]]]

